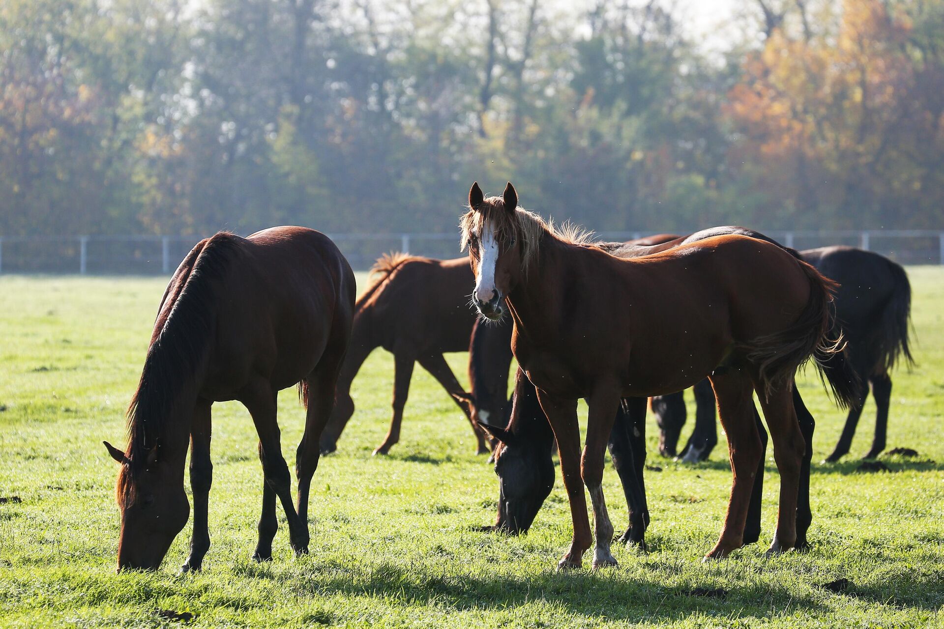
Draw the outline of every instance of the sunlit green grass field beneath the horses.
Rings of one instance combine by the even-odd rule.
[[[650,422],[649,464],[662,472],[647,472],[649,553],[617,547],[616,569],[555,573],[570,539],[560,475],[528,536],[476,532],[494,521],[495,476],[426,372],[414,372],[400,443],[371,456],[393,384],[392,359],[378,350],[355,381],[339,451],[315,475],[311,555],[292,556],[279,512],[275,561],[249,560],[261,505],[255,433],[242,406],[213,407],[213,545],[205,570],[188,575],[178,567],[189,525],[160,571],[115,574],[118,470],[101,444],[125,442],[165,280],[2,276],[0,625],[177,624],[160,609],[192,613],[199,626],[944,626],[944,268],[909,273],[919,364],[895,374],[888,447],[919,457],[884,456],[891,473],[856,472],[869,401],[849,460],[814,466],[809,554],[763,555],[778,489],[768,450],[762,543],[702,564],[730,488],[726,448],[699,466],[661,459]],[[449,361],[465,381],[465,355]],[[801,386],[819,461],[842,418],[812,372]],[[294,390],[279,410],[292,467],[303,426]],[[618,529],[626,506],[609,466],[604,483]],[[844,592],[821,588],[839,578],[851,582]]]

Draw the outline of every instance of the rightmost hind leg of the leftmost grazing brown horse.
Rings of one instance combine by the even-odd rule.
[[[321,456],[321,433],[331,417],[334,407],[334,390],[338,379],[337,365],[318,365],[315,372],[308,377],[308,409],[305,413],[305,432],[295,451],[295,477],[298,479],[298,499],[296,508],[298,520],[305,528],[305,538],[308,532],[308,497],[312,488],[312,476],[318,469],[318,459]],[[306,543],[303,553],[308,552]]]

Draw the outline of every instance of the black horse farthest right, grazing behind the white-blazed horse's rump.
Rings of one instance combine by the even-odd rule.
[[[904,359],[914,364],[911,355],[909,329],[911,318],[911,285],[901,265],[870,251],[854,247],[834,246],[808,249],[800,252],[806,262],[839,283],[835,295],[834,334],[840,329],[846,340],[851,368],[863,386],[836,443],[826,457],[835,462],[849,453],[855,427],[862,414],[871,385],[875,397],[875,435],[863,458],[874,458],[885,450],[888,427],[888,406],[891,397],[891,372]],[[866,384],[868,383],[868,385]],[[695,428],[680,456],[685,461],[704,460],[717,441],[714,395],[704,392],[704,385],[696,385]],[[660,443],[666,454],[674,455],[676,442],[685,422],[685,404],[681,393],[666,396],[656,408],[661,428]]]

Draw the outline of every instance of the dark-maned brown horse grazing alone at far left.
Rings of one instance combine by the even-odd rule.
[[[128,409],[126,452],[105,443],[121,464],[119,571],[157,569],[187,523],[188,439],[194,535],[183,570],[200,569],[210,548],[211,406],[226,400],[244,404],[259,434],[265,481],[253,558],[272,558],[277,496],[295,553],[308,551],[318,438],[334,405],[355,295],[345,257],[327,236],[304,227],[273,227],[246,239],[220,233],[181,262],[161,300]],[[296,383],[308,407],[295,462],[297,511],[276,419],[278,391]]]

